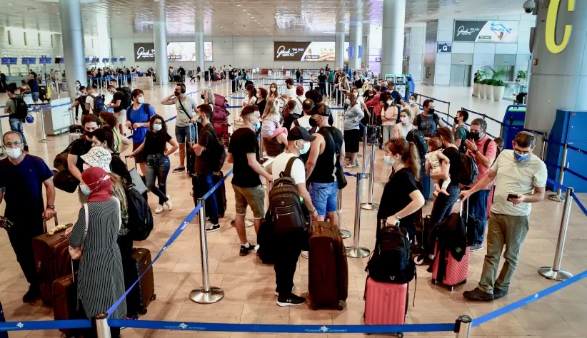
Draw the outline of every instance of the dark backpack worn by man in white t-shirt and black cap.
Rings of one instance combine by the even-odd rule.
[[[301,230],[306,226],[298,187],[291,178],[291,167],[297,159],[289,159],[286,170],[281,172],[269,191],[269,212],[274,217],[276,233]]]

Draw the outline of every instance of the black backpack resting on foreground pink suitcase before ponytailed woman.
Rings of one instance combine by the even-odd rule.
[[[383,227],[365,271],[377,282],[411,282],[416,276],[416,265],[410,253],[408,231],[399,225]]]

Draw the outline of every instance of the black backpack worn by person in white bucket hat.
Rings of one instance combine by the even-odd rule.
[[[146,240],[154,225],[151,208],[143,196],[136,191],[134,184],[128,183],[124,188],[124,193],[126,193],[129,212],[129,224],[126,227],[131,232],[133,240]]]

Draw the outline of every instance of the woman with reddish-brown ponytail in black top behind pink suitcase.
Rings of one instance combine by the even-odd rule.
[[[404,138],[393,138],[385,146],[383,162],[391,166],[392,172],[383,188],[381,202],[377,211],[377,225],[386,220],[386,226],[391,227],[399,222],[399,226],[408,231],[412,240],[415,235],[414,212],[420,210],[424,197],[420,187],[420,155],[416,145]],[[377,235],[380,227],[377,226]]]

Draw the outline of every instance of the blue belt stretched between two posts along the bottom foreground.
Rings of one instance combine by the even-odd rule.
[[[110,327],[135,329],[168,329],[206,332],[258,332],[258,333],[396,333],[396,332],[454,332],[455,323],[403,324],[403,325],[291,325],[291,324],[223,324],[197,322],[163,322],[158,320],[108,319]]]

